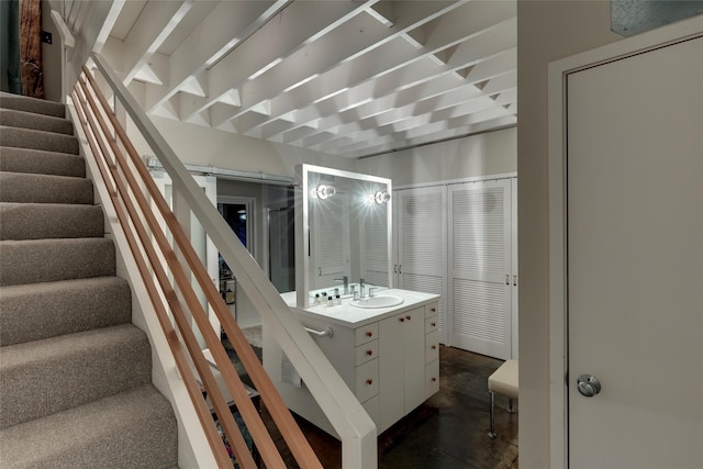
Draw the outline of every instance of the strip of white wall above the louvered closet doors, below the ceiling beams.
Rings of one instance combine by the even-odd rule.
[[[517,129],[420,146],[358,160],[357,171],[391,178],[393,187],[517,170]]]

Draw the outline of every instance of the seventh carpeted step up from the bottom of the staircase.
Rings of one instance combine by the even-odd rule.
[[[68,153],[0,147],[0,171],[86,177],[86,160]]]

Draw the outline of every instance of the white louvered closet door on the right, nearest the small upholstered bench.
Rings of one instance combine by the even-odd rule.
[[[451,345],[511,358],[510,180],[449,186]]]

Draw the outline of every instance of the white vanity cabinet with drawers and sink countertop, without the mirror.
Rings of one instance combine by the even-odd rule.
[[[377,304],[388,298],[402,303],[360,308],[364,300],[355,304],[346,298],[341,305],[299,309],[294,293],[283,294],[381,433],[439,390],[438,297],[390,289],[373,298],[379,299]],[[288,407],[338,437],[280,347],[267,336],[265,328],[264,367]]]

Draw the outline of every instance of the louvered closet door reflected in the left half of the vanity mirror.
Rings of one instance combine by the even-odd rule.
[[[349,275],[349,219],[347,194],[337,192],[314,200],[310,210],[310,284],[312,289],[334,287],[335,278]]]

